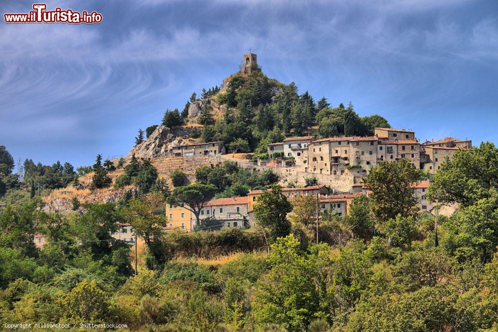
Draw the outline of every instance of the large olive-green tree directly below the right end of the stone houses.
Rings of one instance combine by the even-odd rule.
[[[413,214],[417,200],[413,195],[413,183],[421,177],[421,171],[406,159],[381,162],[364,178],[372,190],[372,212],[378,223],[394,219],[398,214]]]

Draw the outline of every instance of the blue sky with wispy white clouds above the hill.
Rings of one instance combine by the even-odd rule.
[[[0,0],[0,12],[33,2]],[[497,0],[47,0],[100,24],[0,22],[0,145],[43,164],[126,155],[139,128],[263,73],[421,141],[498,142]],[[3,15],[2,15],[3,16]]]

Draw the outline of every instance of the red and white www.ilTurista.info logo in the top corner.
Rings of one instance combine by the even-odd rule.
[[[102,14],[96,11],[88,13],[73,11],[72,9],[62,10],[56,7],[55,10],[46,10],[45,3],[34,3],[33,9],[28,13],[5,13],[3,18],[5,23],[71,23],[71,24],[93,24],[102,22]]]

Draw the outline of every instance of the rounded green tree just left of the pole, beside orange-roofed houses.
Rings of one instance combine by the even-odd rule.
[[[257,223],[270,229],[271,238],[287,236],[290,233],[290,222],[287,220],[287,213],[292,211],[292,204],[282,194],[279,186],[265,190],[257,197],[253,205],[254,218]]]

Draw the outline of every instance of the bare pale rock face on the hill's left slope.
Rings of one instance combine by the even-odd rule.
[[[141,144],[137,145],[126,156],[131,158],[135,154],[136,158],[155,158],[167,156],[173,150],[173,147],[186,144],[197,143],[196,140],[190,139],[193,132],[199,132],[198,127],[177,127],[172,130],[167,127],[159,126],[152,134]]]

